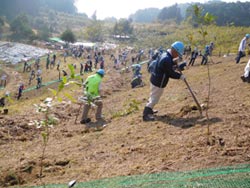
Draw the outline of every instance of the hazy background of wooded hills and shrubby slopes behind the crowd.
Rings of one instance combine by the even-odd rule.
[[[216,42],[219,51],[235,51],[238,45],[235,41],[249,31],[250,2],[217,1],[196,5],[202,7],[202,14],[209,12],[215,17],[215,27],[209,28],[207,39]],[[128,19],[98,20],[95,14],[88,17],[77,13],[74,0],[27,0],[25,3],[22,0],[2,0],[0,39],[32,43],[56,36],[68,42],[112,42],[113,35],[128,35],[129,40],[116,42],[159,47],[169,45],[177,37],[186,44],[199,46],[203,44],[198,40],[191,41],[192,37],[197,38],[198,32],[192,8],[192,4],[175,4],[163,9],[138,10]]]

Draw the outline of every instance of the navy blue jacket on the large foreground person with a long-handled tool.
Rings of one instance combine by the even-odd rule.
[[[150,82],[154,86],[164,88],[168,84],[169,78],[180,79],[181,74],[174,71],[174,65],[171,54],[169,52],[163,53],[153,67]]]

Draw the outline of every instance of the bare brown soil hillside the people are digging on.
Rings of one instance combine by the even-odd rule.
[[[105,58],[108,61],[109,56]],[[170,80],[156,105],[159,110],[157,120],[143,122],[142,111],[150,88],[146,66],[143,66],[146,85],[131,89],[132,73],[120,74],[112,68],[111,62],[107,62],[107,75],[103,80],[106,95],[103,113],[107,127],[88,132],[79,123],[80,116],[75,123],[79,104],[63,102],[55,106],[53,113],[60,122],[52,129],[46,148],[43,182],[67,183],[72,179],[82,182],[249,163],[250,85],[240,79],[248,59],[245,57],[236,65],[234,56],[212,58],[208,121],[205,112],[200,117],[198,111],[192,110],[195,103],[186,85],[179,80]],[[207,66],[200,66],[200,61],[197,59],[196,65],[184,74],[200,103],[206,104]],[[11,68],[6,70],[11,71]],[[51,74],[52,71],[48,75]],[[14,80],[10,82],[14,87]],[[75,97],[81,95],[81,90],[69,89]],[[9,104],[8,115],[0,116],[1,187],[41,184],[37,175],[42,138],[40,130],[30,126],[29,122],[41,118],[32,103],[48,95],[45,87],[24,93],[21,101]],[[129,110],[129,104],[139,110],[122,116]],[[90,115],[94,119],[93,111]]]

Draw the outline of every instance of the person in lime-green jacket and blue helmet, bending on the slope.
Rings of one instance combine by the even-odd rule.
[[[102,78],[104,77],[104,70],[99,69],[96,74],[90,75],[87,77],[86,81],[84,82],[84,95],[87,98],[87,101],[84,103],[82,119],[80,121],[81,124],[86,124],[91,121],[88,117],[88,112],[91,107],[91,103],[97,106],[96,110],[96,120],[100,121],[103,120],[102,117],[102,107],[103,103],[101,100],[101,82]]]

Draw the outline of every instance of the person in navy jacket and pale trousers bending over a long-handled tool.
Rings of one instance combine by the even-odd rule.
[[[184,80],[185,76],[174,70],[175,60],[182,59],[184,44],[176,41],[155,61],[150,77],[150,97],[143,110],[143,121],[154,121],[154,106],[159,102],[169,78]]]

